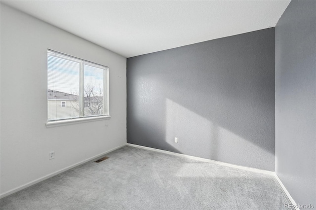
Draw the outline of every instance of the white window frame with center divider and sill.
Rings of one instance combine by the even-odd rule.
[[[97,64],[91,61],[87,61],[72,55],[68,55],[65,53],[61,53],[59,51],[55,51],[55,50],[51,50],[51,49],[47,49],[47,56],[46,56],[46,66],[48,65],[48,53],[52,52],[52,53],[57,53],[56,57],[59,57],[61,59],[65,59],[65,60],[79,60],[80,61],[80,70],[79,70],[79,117],[76,118],[69,118],[69,119],[55,119],[55,120],[48,120],[48,99],[47,100],[47,123],[45,124],[46,127],[55,127],[55,126],[59,126],[59,125],[66,125],[66,124],[75,124],[75,123],[81,123],[81,122],[87,122],[87,121],[96,121],[96,120],[103,120],[103,119],[110,119],[110,84],[109,84],[109,75],[110,75],[110,68],[108,66],[105,65],[101,65],[101,64]],[[64,57],[65,56],[65,57]],[[69,59],[71,58],[71,59]],[[72,60],[74,61],[74,60]],[[84,115],[84,65],[88,65],[88,66],[92,66],[92,67],[96,67],[96,68],[100,68],[103,67],[104,68],[104,80],[103,80],[103,108],[106,108],[106,111],[104,111],[105,113],[102,115],[88,115],[85,116]],[[46,69],[46,73],[47,73],[47,90],[46,93],[48,91],[48,68]],[[65,102],[65,106],[62,106],[62,103]],[[66,101],[61,101],[61,107],[64,108],[66,107]],[[83,106],[83,108],[81,109],[81,107]]]

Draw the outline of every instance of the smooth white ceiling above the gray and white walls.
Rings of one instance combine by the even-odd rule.
[[[275,27],[290,0],[1,0],[124,57]]]

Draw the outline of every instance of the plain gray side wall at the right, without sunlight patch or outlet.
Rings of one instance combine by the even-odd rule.
[[[276,25],[276,174],[316,208],[316,1],[292,0]]]

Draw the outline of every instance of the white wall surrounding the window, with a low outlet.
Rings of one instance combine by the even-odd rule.
[[[126,143],[126,58],[3,4],[0,20],[3,197]],[[47,48],[110,67],[111,119],[45,127]]]

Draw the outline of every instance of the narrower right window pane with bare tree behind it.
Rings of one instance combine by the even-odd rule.
[[[84,95],[83,106],[84,116],[104,115],[104,76],[105,69],[98,68],[95,65],[83,64],[83,80],[84,80]]]

